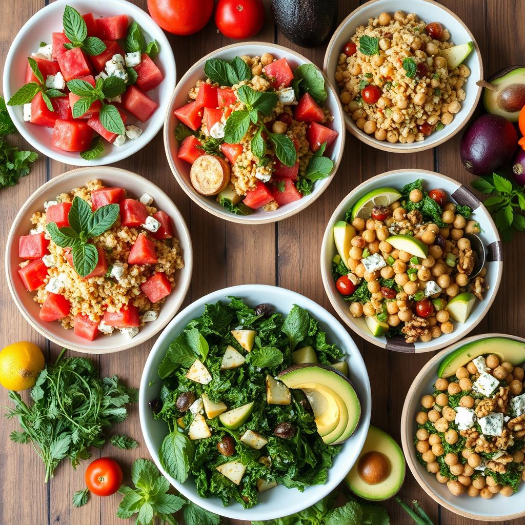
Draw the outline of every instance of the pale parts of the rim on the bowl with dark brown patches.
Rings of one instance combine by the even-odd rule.
[[[337,219],[338,215],[343,210],[348,209],[349,205],[345,204],[345,203],[346,203],[346,201],[350,200],[350,198],[351,198],[351,196],[353,194],[359,192],[360,190],[363,190],[363,188],[365,188],[370,183],[375,183],[375,182],[379,181],[380,179],[382,179],[383,177],[385,177],[387,175],[405,175],[405,174],[411,174],[411,173],[412,174],[418,174],[419,173],[419,174],[422,174],[422,175],[432,175],[432,176],[436,176],[438,178],[443,178],[447,182],[453,183],[458,188],[459,187],[463,187],[466,191],[471,193],[470,190],[467,187],[465,187],[463,184],[461,184],[459,181],[456,181],[454,178],[448,177],[447,175],[443,175],[442,173],[438,173],[438,172],[435,172],[435,171],[418,170],[418,169],[401,169],[401,170],[385,171],[383,173],[380,173],[379,175],[375,175],[375,176],[367,179],[366,181],[363,181],[361,184],[359,184],[359,186],[355,186],[355,188],[353,188],[353,190],[351,190],[349,193],[347,193],[342,198],[341,202],[339,203],[337,208],[335,208],[334,212],[332,213],[332,215],[328,219],[328,224],[327,224],[327,227],[324,230],[323,239],[322,239],[322,242],[321,242],[321,251],[320,251],[321,278],[322,278],[322,281],[323,281],[324,291],[327,294],[328,299],[330,300],[330,303],[332,304],[332,307],[338,313],[338,316],[345,322],[345,324],[348,325],[349,328],[351,328],[356,334],[358,334],[360,337],[362,337],[363,339],[365,339],[369,343],[372,343],[375,346],[379,346],[379,348],[384,348],[384,345],[378,339],[374,338],[373,335],[368,334],[368,333],[360,330],[359,327],[357,327],[354,323],[352,323],[350,318],[349,318],[348,313],[340,307],[339,303],[333,297],[333,295],[332,295],[332,293],[330,291],[330,283],[331,283],[331,281],[333,281],[333,278],[332,278],[331,273],[328,272],[328,274],[327,274],[327,272],[325,271],[325,268],[324,268],[324,266],[325,266],[324,265],[325,251],[327,249],[328,239],[329,239],[330,235],[332,234],[332,226],[335,223],[335,220]],[[500,236],[499,236],[498,229],[496,228],[496,225],[494,224],[494,221],[492,220],[491,215],[487,212],[487,210],[486,210],[486,208],[485,208],[485,206],[483,205],[482,202],[480,202],[479,207],[481,207],[486,212],[488,221],[489,221],[489,223],[490,223],[490,225],[492,227],[493,233],[495,234],[496,242],[501,243],[501,239],[500,239]],[[502,261],[503,261],[503,256],[501,256],[501,265],[502,265]],[[481,322],[481,320],[484,319],[484,317],[486,316],[486,314],[489,311],[490,307],[492,306],[492,303],[496,299],[496,296],[498,295],[499,286],[500,286],[500,283],[501,283],[501,276],[502,276],[502,271],[498,271],[498,274],[496,276],[496,286],[493,287],[493,293],[491,294],[491,297],[489,298],[489,300],[485,304],[485,308],[480,312],[478,319],[474,323],[472,323],[472,325],[467,330],[465,330],[463,332],[459,331],[458,334],[455,335],[455,337],[453,339],[450,339],[450,341],[448,342],[449,345],[453,345],[453,344],[457,343],[457,341],[459,341],[461,338],[465,337],[465,335],[467,335],[472,330],[474,330],[477,327],[477,325]],[[423,345],[418,347],[418,349],[416,350],[416,353],[435,352],[436,350],[440,350],[440,349],[443,348],[443,344],[439,344],[439,342],[438,342],[439,338],[433,339],[432,341],[433,342],[436,341],[436,342],[434,342],[433,344],[424,343]]]

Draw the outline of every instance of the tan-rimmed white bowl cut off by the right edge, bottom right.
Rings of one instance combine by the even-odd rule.
[[[471,341],[477,341],[487,337],[505,337],[525,343],[525,339],[501,333],[484,333],[474,335],[458,341],[449,346],[443,352],[439,352],[422,368],[409,388],[403,405],[401,415],[401,441],[403,452],[406,457],[408,468],[423,490],[430,495],[439,505],[448,510],[469,518],[470,520],[498,521],[509,523],[507,520],[522,518],[525,516],[525,499],[523,499],[523,486],[520,491],[509,498],[501,494],[495,494],[491,499],[481,497],[471,498],[466,491],[462,496],[453,496],[446,484],[439,483],[436,476],[428,474],[427,470],[416,457],[414,436],[417,430],[415,421],[416,414],[421,409],[421,398],[425,394],[432,394],[433,385],[437,379],[439,363],[451,352]]]

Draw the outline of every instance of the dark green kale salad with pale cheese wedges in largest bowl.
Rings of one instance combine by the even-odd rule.
[[[323,442],[302,390],[275,378],[297,348],[311,346],[323,364],[343,353],[297,305],[283,316],[229,299],[207,304],[172,342],[150,406],[170,430],[159,451],[166,472],[180,482],[193,475],[201,497],[249,508],[276,485],[327,481],[341,446]]]

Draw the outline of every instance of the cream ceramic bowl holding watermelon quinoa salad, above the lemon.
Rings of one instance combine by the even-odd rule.
[[[175,287],[162,304],[159,317],[155,321],[146,323],[140,329],[139,334],[135,335],[131,340],[118,330],[115,330],[112,335],[99,335],[94,341],[88,341],[75,335],[72,329],[65,330],[58,321],[41,321],[38,315],[40,306],[33,300],[36,292],[28,292],[26,290],[17,271],[19,268],[18,264],[22,261],[18,257],[18,238],[20,235],[28,235],[29,229],[33,227],[30,223],[31,216],[35,212],[44,209],[45,201],[54,199],[60,193],[69,193],[73,188],[81,187],[93,178],[100,179],[106,186],[122,187],[130,195],[137,198],[143,193],[149,193],[154,199],[153,205],[166,212],[172,218],[174,236],[180,241],[184,258],[184,268],[175,272]],[[70,350],[90,354],[105,354],[139,346],[162,330],[173,318],[190,287],[193,251],[190,233],[181,212],[178,211],[170,197],[158,186],[155,186],[146,178],[127,170],[121,170],[116,167],[92,167],[79,168],[58,175],[38,188],[27,199],[16,215],[9,231],[4,261],[9,291],[16,306],[35,330],[50,341],[60,346],[65,346],[65,348]]]

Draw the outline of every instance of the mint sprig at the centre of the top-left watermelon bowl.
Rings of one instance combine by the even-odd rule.
[[[80,97],[73,106],[73,117],[80,118],[89,109],[91,104],[100,100],[102,106],[99,111],[100,123],[111,133],[123,135],[125,133],[124,122],[119,111],[112,104],[106,104],[104,100],[118,97],[125,89],[123,80],[117,77],[99,78],[95,87],[86,80],[70,80],[67,87],[72,93]]]

